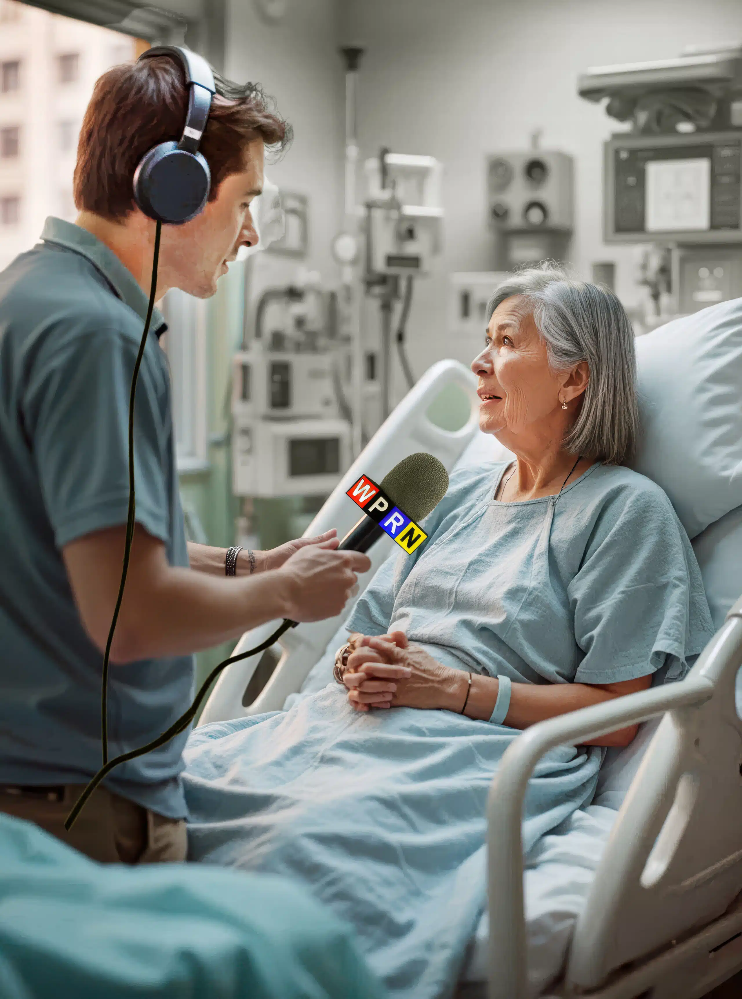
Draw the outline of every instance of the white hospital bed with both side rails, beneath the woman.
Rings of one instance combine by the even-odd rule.
[[[413,452],[435,455],[448,470],[507,456],[478,431],[474,388],[456,362],[430,368],[307,534],[335,526],[343,535],[358,518],[346,490],[362,474],[378,481]],[[445,430],[430,417],[436,401],[456,391],[468,401],[468,419]],[[392,543],[383,538],[371,548],[362,591]],[[742,551],[737,557],[742,562]],[[289,631],[262,660],[228,667],[199,724],[281,710],[329,643],[339,644],[336,632],[351,609]],[[243,635],[235,651],[264,641],[276,623]],[[275,668],[249,702],[246,690],[259,662]],[[461,976],[460,999],[695,999],[742,969],[740,664],[742,598],[682,682],[541,722],[512,743],[489,794],[488,928],[485,916]],[[608,751],[593,803],[524,858],[523,798],[541,756],[636,722],[647,724],[626,749]]]

